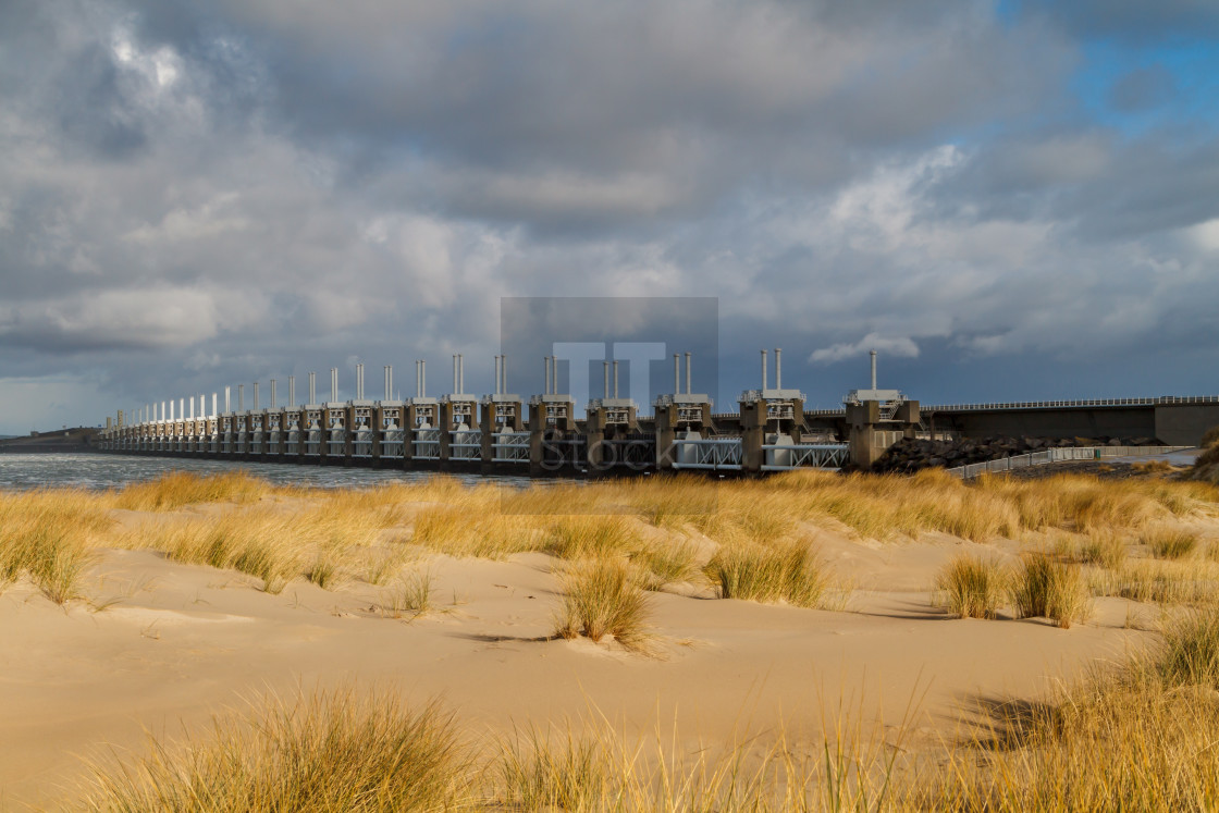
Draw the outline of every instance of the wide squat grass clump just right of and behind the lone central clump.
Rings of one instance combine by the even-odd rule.
[[[807,542],[770,547],[733,542],[707,563],[706,573],[722,598],[817,607],[828,580],[817,551]]]

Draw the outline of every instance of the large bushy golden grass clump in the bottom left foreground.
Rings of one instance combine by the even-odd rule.
[[[211,741],[154,746],[99,770],[96,811],[439,811],[466,801],[468,753],[452,717],[402,708],[390,692],[272,698],[252,719],[218,720]]]

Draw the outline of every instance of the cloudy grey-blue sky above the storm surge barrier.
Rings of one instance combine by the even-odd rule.
[[[1217,394],[1219,4],[0,0],[0,434],[522,296],[716,299],[717,410]]]

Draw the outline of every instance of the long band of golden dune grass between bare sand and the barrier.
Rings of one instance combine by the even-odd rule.
[[[227,507],[193,507],[211,501]],[[651,574],[647,586],[658,589],[702,578],[707,562],[698,551],[706,542],[696,541],[706,536],[722,549],[712,575],[723,586],[735,577],[720,566],[744,564],[746,553],[767,558],[768,550],[800,546],[835,523],[879,540],[926,531],[1019,539],[1029,530],[1098,540],[1154,534],[1173,517],[1213,513],[1217,502],[1219,488],[1196,481],[1058,475],[963,483],[935,470],[915,477],[791,472],[733,483],[683,475],[519,490],[436,477],[336,491],[272,488],[241,472],[172,473],[119,492],[0,494],[0,583],[37,578],[49,596],[67,601],[79,592],[90,549],[146,547],[244,570],[271,592],[295,578],[328,589],[358,580],[386,585],[424,552],[503,558],[527,551],[570,561],[625,557]],[[119,507],[149,516],[137,528],[127,520],[122,530],[110,517]],[[667,539],[647,525],[664,529]],[[1120,567],[1115,544],[1090,545],[1080,552],[1085,559]],[[35,559],[40,564],[32,566]],[[785,590],[791,603],[811,601],[807,586],[794,583]]]

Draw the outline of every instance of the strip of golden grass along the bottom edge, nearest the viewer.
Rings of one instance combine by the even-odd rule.
[[[824,720],[819,747],[780,729],[722,746],[631,741],[608,723],[479,744],[435,705],[315,694],[154,742],[99,768],[105,811],[1210,811],[1219,807],[1219,609],[1171,617],[1163,644],[1041,702],[995,698],[923,753]],[[679,745],[680,744],[680,745]]]

